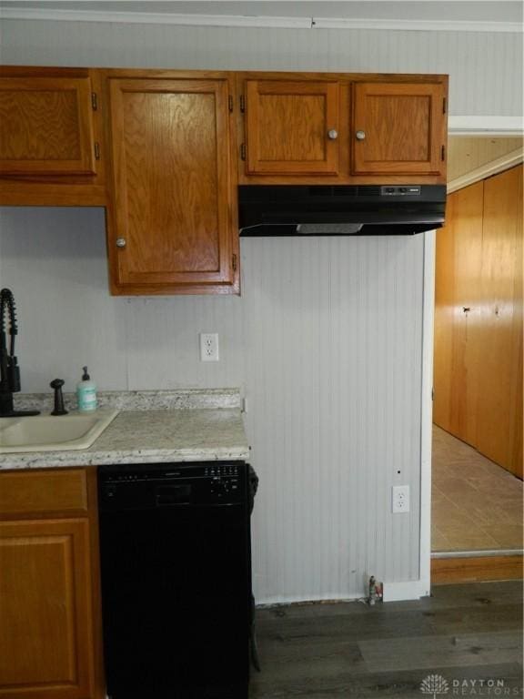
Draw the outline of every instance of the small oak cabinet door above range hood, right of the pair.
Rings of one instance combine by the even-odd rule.
[[[357,83],[353,174],[445,177],[446,86]]]

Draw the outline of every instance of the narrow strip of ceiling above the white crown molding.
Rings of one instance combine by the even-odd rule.
[[[173,15],[222,15],[261,17],[319,17],[340,19],[382,19],[411,21],[489,22],[496,24],[523,21],[521,0],[359,0],[330,2],[306,0],[287,2],[156,2],[142,0],[106,0],[106,2],[60,2],[58,0],[0,0],[0,8],[33,11],[73,11],[96,13],[136,13]],[[8,15],[6,15],[8,16]]]

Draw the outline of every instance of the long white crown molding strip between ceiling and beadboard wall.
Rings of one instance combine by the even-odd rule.
[[[518,22],[467,22],[464,20],[348,19],[338,17],[269,17],[264,15],[177,15],[174,13],[59,10],[36,7],[0,8],[2,19],[52,22],[112,22],[145,25],[245,26],[287,29],[379,29],[418,32],[522,33]]]

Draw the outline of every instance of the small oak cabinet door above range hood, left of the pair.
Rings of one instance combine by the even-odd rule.
[[[246,81],[248,175],[338,174],[338,83]]]

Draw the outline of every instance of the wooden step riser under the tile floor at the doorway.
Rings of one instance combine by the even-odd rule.
[[[522,555],[432,558],[431,584],[522,580]]]

